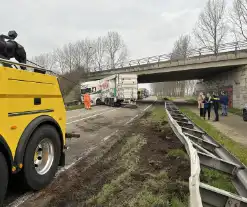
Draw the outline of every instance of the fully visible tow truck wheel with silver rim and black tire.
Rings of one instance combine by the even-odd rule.
[[[27,187],[40,190],[53,179],[60,160],[61,142],[50,125],[39,127],[31,136],[24,155],[23,176]]]

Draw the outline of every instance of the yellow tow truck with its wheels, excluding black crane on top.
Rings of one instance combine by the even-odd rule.
[[[11,174],[40,190],[65,164],[66,110],[57,77],[0,58],[0,118],[2,206]]]

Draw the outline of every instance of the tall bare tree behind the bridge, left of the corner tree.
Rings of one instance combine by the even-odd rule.
[[[225,7],[225,0],[208,0],[194,29],[199,43],[213,51],[215,55],[218,54],[219,47],[228,31]]]

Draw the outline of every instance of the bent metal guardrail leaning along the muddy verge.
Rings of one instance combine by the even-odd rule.
[[[247,169],[236,157],[183,115],[172,102],[165,102],[168,121],[190,157],[191,207],[247,207]],[[200,182],[201,166],[231,176],[237,194]]]

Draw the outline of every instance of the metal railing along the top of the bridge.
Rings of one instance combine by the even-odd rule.
[[[194,48],[190,49],[188,53],[169,53],[169,54],[161,54],[155,55],[145,58],[140,58],[136,60],[130,60],[125,62],[119,62],[112,67],[111,65],[103,65],[100,68],[95,67],[91,68],[92,72],[97,71],[104,71],[104,70],[111,70],[111,69],[118,69],[118,68],[126,68],[126,67],[134,67],[134,66],[141,66],[147,65],[151,63],[160,63],[165,61],[178,61],[178,60],[186,60],[192,58],[200,58],[206,55],[220,55],[220,53],[224,52],[238,52],[247,49],[247,42],[246,41],[239,41],[239,42],[230,42],[221,44],[218,48],[218,51],[215,52],[213,47],[201,47],[201,48]]]

